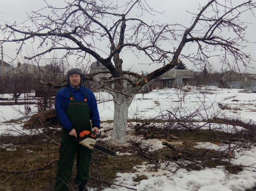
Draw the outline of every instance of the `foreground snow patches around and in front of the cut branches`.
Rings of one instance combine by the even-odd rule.
[[[112,128],[111,124],[103,123],[103,128]],[[229,132],[231,126],[224,128]],[[238,127],[241,128],[241,127]],[[128,129],[127,132],[131,130]],[[109,131],[104,135],[110,135]],[[109,140],[110,136],[103,138]],[[132,139],[132,135],[128,135]],[[147,146],[149,152],[165,147],[159,139],[140,141],[140,146]],[[181,142],[171,142],[173,145],[182,144]],[[232,146],[232,145],[231,145]],[[198,142],[196,148],[207,148],[212,150],[225,150],[228,145],[214,144],[211,142]],[[130,153],[117,153],[118,155],[131,155]],[[133,167],[133,173],[117,173],[114,181],[116,185],[105,188],[104,191],[245,191],[256,187],[256,146],[250,150],[235,150],[234,158],[231,160],[233,165],[243,165],[245,168],[237,174],[228,174],[223,166],[216,168],[204,168],[199,171],[187,171],[186,169],[177,170],[177,164],[168,161],[160,161],[156,168],[155,164],[148,162]],[[186,161],[184,161],[186,162]],[[135,181],[138,176],[147,177],[140,182]],[[121,187],[122,185],[126,187]],[[129,188],[127,188],[129,187]],[[93,188],[90,191],[95,191]]]

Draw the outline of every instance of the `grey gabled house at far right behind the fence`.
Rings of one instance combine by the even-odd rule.
[[[254,86],[255,81],[250,75],[244,75],[233,70],[215,76],[214,80],[218,87],[234,89],[250,89]]]

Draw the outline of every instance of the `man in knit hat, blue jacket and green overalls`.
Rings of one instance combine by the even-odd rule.
[[[89,180],[91,150],[73,141],[81,131],[99,132],[100,120],[97,102],[93,92],[84,87],[83,73],[74,68],[67,73],[67,85],[56,95],[55,111],[62,126],[60,160],[55,181],[55,191],[68,191],[71,185],[71,173],[76,155],[76,185],[78,191],[87,191]],[[90,120],[92,121],[92,127]]]

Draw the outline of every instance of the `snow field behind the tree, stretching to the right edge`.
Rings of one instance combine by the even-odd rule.
[[[182,103],[182,109],[179,110],[178,115],[185,112],[194,112],[202,104],[209,111],[201,111],[202,116],[206,117],[208,114],[218,113],[220,118],[240,119],[249,122],[252,120],[256,122],[256,93],[239,93],[239,89],[217,89],[210,91],[210,93],[202,94],[198,90],[190,91],[185,97],[185,103]],[[144,95],[137,94],[129,108],[129,118],[150,118],[154,117],[159,112],[167,113],[166,110],[171,110],[180,105],[178,102],[177,92],[175,89],[154,90],[151,93]],[[239,100],[238,102],[234,100]],[[228,105],[229,107],[237,110],[221,110],[218,103]],[[113,102],[104,102],[99,104],[99,112],[101,121],[113,119],[114,117],[114,104]],[[187,113],[188,114],[188,113]],[[200,118],[198,118],[200,119]]]

